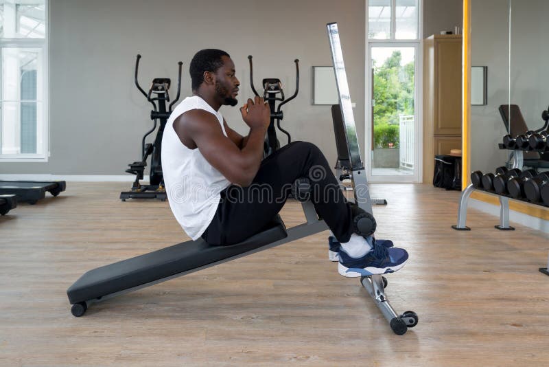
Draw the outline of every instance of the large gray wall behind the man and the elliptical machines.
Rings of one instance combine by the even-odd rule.
[[[182,96],[191,93],[189,62],[196,51],[217,47],[231,54],[242,83],[241,101],[255,82],[277,77],[294,91],[294,58],[301,60],[299,96],[284,108],[293,140],[317,144],[335,163],[329,106],[312,106],[311,67],[331,65],[325,24],[340,25],[355,118],[364,134],[364,14],[361,0],[50,1],[50,151],[47,163],[0,164],[2,173],[124,175],[139,159],[141,136],[152,122],[150,104],[133,83],[135,55],[143,55],[140,80],[176,79],[183,61]],[[172,90],[174,90],[172,88]],[[229,125],[246,133],[237,107],[222,107]],[[285,135],[280,137],[285,144]],[[130,176],[128,175],[128,178]]]

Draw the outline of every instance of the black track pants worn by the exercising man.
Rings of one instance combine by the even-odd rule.
[[[223,190],[202,238],[211,245],[233,245],[260,232],[280,212],[299,177],[312,183],[311,201],[336,238],[349,241],[351,207],[323,153],[307,142],[292,142],[264,159],[250,186]]]

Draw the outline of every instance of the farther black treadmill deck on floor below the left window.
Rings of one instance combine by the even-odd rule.
[[[46,191],[56,197],[65,188],[65,181],[0,181],[0,194],[16,195],[19,203],[35,204]]]

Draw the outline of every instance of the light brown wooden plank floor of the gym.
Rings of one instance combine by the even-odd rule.
[[[398,336],[356,278],[327,260],[327,232],[70,313],[84,271],[187,240],[168,203],[121,202],[126,183],[67,192],[0,218],[1,366],[549,366],[549,235],[470,210],[459,192],[372,185],[377,237],[410,261],[387,276]],[[288,227],[303,221],[288,203]]]

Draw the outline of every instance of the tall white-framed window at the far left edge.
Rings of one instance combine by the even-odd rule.
[[[47,0],[0,0],[0,161],[47,159]]]

